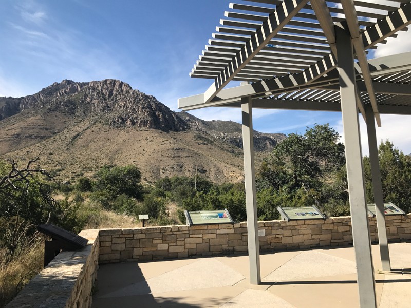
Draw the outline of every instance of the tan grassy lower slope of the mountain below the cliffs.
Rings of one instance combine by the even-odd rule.
[[[13,120],[17,121],[17,118]],[[29,117],[24,122],[31,120],[38,119]],[[42,121],[52,124],[45,119]],[[203,144],[197,137],[198,132],[191,130],[114,129],[101,123],[72,122],[70,119],[66,121],[66,127],[48,127],[47,133],[57,132],[48,136],[44,134],[46,124],[43,122],[41,130],[35,129],[37,122],[27,127],[14,127],[7,119],[3,122],[0,123],[0,158],[18,157],[27,161],[45,147],[40,163],[43,168],[57,172],[61,181],[73,183],[80,176],[92,176],[104,164],[136,164],[141,170],[143,183],[166,176],[194,176],[196,167],[207,170],[202,176],[218,183],[242,179],[242,156],[234,154],[241,152],[238,147],[212,137],[213,142]],[[24,138],[27,134],[32,135],[33,140]],[[260,160],[258,153],[256,160]]]

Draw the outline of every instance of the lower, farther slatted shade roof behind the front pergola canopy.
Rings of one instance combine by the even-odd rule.
[[[384,63],[390,66],[382,65]],[[369,60],[368,64],[379,112],[411,114],[411,52]],[[365,114],[365,106],[370,104],[371,99],[358,63],[354,68],[359,93],[358,107]],[[240,105],[238,100],[225,104],[226,107]],[[265,97],[255,99],[253,108],[341,111],[338,73],[331,72],[321,81],[300,86],[299,89],[272,91]]]

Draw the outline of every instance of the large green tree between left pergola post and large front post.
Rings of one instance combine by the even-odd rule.
[[[346,213],[348,194],[341,178],[345,155],[339,139],[324,124],[307,128],[304,135],[290,133],[279,143],[256,172],[259,217],[272,219],[274,207],[293,204],[315,204],[326,214]],[[340,199],[332,209],[331,200]]]

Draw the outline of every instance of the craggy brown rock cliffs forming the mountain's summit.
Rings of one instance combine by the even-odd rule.
[[[34,95],[6,102],[0,100],[0,120],[32,108],[100,115],[110,126],[137,126],[170,131],[186,129],[184,121],[152,95],[133,90],[120,80],[78,83],[63,80]]]

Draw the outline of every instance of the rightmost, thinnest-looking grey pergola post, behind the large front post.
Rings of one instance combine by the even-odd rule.
[[[384,198],[382,196],[382,183],[380,163],[378,161],[378,145],[376,136],[376,125],[374,123],[374,112],[370,105],[365,108],[367,122],[369,161],[371,164],[372,189],[374,192],[374,202],[376,204],[378,243],[380,245],[381,263],[383,271],[391,271],[389,260],[389,249],[387,239],[387,229],[385,226]]]

